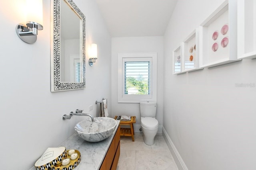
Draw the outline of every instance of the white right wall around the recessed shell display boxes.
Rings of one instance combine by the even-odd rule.
[[[179,0],[164,36],[163,126],[189,170],[253,170],[256,60],[172,75],[172,50],[224,0]]]

